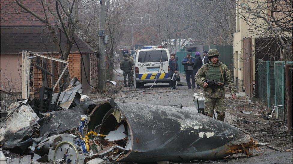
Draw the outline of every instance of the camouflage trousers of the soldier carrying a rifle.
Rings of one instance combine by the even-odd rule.
[[[224,98],[209,98],[206,97],[204,100],[204,113],[207,116],[213,117],[213,111],[216,110],[218,117],[217,119],[224,121],[226,103]]]

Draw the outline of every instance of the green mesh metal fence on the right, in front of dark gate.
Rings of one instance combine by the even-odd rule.
[[[284,104],[285,64],[293,62],[262,61],[258,64],[258,98],[264,102],[268,109]],[[282,107],[281,107],[282,108]]]

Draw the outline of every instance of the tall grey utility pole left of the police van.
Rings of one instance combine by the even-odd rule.
[[[105,0],[100,0],[98,88],[102,92],[106,90],[105,22]]]

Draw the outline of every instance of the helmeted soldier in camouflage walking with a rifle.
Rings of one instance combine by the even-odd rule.
[[[213,117],[213,111],[216,110],[218,118],[221,121],[225,119],[225,88],[216,86],[215,91],[208,86],[204,79],[216,80],[218,82],[226,83],[232,99],[236,98],[236,88],[232,79],[230,70],[225,64],[219,61],[220,56],[217,49],[210,49],[208,52],[209,62],[204,64],[195,75],[195,82],[204,87],[204,112],[207,116]]]

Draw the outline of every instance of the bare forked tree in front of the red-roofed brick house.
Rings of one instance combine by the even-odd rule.
[[[37,14],[36,11],[23,4],[22,1],[15,0],[18,6],[20,6],[24,11],[30,13],[36,19],[41,21],[46,28],[50,31],[50,35],[53,38],[59,53],[61,54],[60,59],[67,60],[68,55],[71,51],[72,45],[74,43],[74,30],[76,29],[76,23],[78,21],[78,4],[79,0],[72,1],[62,1],[56,0],[55,4],[51,0],[41,0],[41,6],[43,12]],[[38,12],[39,13],[39,12]],[[61,47],[60,41],[58,41],[57,31],[62,31],[66,36],[66,46]],[[60,35],[62,35],[60,33]],[[61,64],[59,69],[60,72],[65,68],[65,65]],[[69,71],[65,71],[63,75],[63,82],[65,86],[69,85]],[[66,88],[66,87],[65,87]]]

